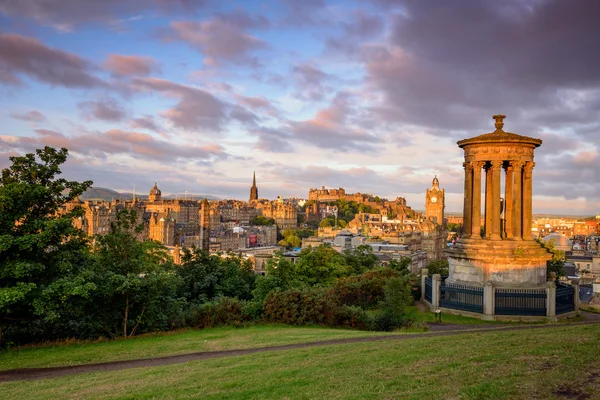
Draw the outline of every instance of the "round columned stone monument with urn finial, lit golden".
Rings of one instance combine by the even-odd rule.
[[[458,142],[465,152],[463,236],[447,250],[446,282],[542,287],[552,255],[531,236],[533,152],[542,141],[505,132],[505,115],[493,118],[494,132]]]

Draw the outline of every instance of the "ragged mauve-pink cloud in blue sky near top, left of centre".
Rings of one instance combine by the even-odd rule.
[[[215,16],[206,21],[174,21],[164,34],[167,40],[181,40],[204,55],[204,63],[216,66],[236,63],[258,66],[259,60],[252,55],[256,50],[269,46],[256,36],[244,32],[245,27],[260,25],[250,16]]]

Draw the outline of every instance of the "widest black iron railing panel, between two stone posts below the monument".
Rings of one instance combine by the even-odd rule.
[[[498,315],[546,315],[546,289],[496,288],[495,300]]]

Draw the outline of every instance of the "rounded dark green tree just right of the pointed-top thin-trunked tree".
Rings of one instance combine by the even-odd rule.
[[[252,299],[255,274],[252,263],[234,254],[209,255],[199,249],[184,249],[176,273],[182,278],[181,296],[190,303],[219,297]]]

